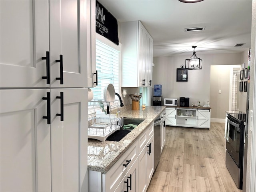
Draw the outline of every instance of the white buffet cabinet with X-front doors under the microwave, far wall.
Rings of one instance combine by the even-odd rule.
[[[205,107],[167,107],[166,125],[209,129],[210,109]]]

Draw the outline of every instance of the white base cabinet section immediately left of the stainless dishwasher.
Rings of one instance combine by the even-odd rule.
[[[151,124],[150,127],[146,130],[146,133],[151,132],[152,127],[154,129],[154,124]],[[138,166],[139,166],[139,186],[138,191],[144,192],[147,190],[152,175],[154,173],[154,134],[150,135],[150,138],[146,139],[146,143],[142,148],[142,151],[138,157]],[[140,136],[144,137],[143,135]],[[140,141],[139,138],[139,141]]]

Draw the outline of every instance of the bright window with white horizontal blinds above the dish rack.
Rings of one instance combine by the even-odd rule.
[[[96,70],[98,71],[98,86],[91,88],[93,91],[93,100],[103,100],[103,91],[108,84],[113,84],[115,92],[120,92],[120,59],[121,44],[110,42],[101,35],[96,34]],[[94,110],[88,106],[88,116],[91,116]]]

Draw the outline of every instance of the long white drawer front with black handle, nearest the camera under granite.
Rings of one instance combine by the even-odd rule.
[[[134,164],[137,157],[138,140],[136,140],[134,144],[130,146],[130,148],[121,156],[121,158],[112,166],[112,168],[110,168],[106,174],[102,175],[103,191],[114,191],[124,176],[126,176],[128,170],[131,168],[132,164]]]

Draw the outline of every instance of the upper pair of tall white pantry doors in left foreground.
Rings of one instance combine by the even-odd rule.
[[[87,87],[86,1],[1,1],[0,7],[1,87]]]

